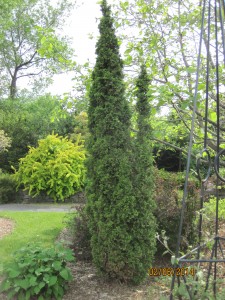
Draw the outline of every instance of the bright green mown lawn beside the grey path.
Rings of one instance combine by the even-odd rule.
[[[10,218],[15,227],[10,235],[0,240],[0,271],[2,263],[12,259],[17,249],[30,242],[43,246],[53,245],[65,225],[64,212],[0,212],[0,217]]]

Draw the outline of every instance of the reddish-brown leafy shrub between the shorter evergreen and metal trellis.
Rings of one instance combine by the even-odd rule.
[[[183,179],[184,181],[184,179]],[[179,173],[155,169],[155,201],[158,232],[166,231],[169,247],[176,248],[178,226],[180,223],[181,201],[183,192],[182,176]],[[195,180],[189,181],[189,195],[186,203],[182,232],[182,247],[195,242],[196,211],[199,208],[199,192]],[[158,245],[159,246],[159,245]],[[165,250],[160,249],[159,250]]]

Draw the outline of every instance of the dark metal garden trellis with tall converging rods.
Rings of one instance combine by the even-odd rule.
[[[173,265],[173,277],[171,282],[170,300],[175,299],[208,299],[202,298],[207,295],[209,289],[216,297],[218,293],[218,279],[223,278],[225,282],[225,237],[219,235],[219,190],[221,184],[225,182],[225,177],[222,173],[225,166],[225,149],[224,142],[221,138],[221,107],[222,100],[225,94],[225,1],[224,0],[204,0],[201,1],[201,29],[200,41],[197,59],[197,72],[194,92],[193,117],[191,124],[190,141],[187,156],[187,168],[184,184],[184,193],[181,208],[180,225],[178,231],[178,240],[175,253],[175,263]],[[203,48],[203,42],[205,48]],[[203,63],[203,57],[206,56],[206,61]],[[193,148],[193,136],[196,121],[196,112],[198,104],[198,86],[200,78],[200,70],[205,67],[205,116],[204,116],[204,140],[203,150],[199,153],[197,159],[197,174],[201,183],[200,195],[200,214],[198,226],[198,242],[196,247],[185,255],[180,256],[182,227],[185,217],[185,207],[188,197],[188,182],[191,165],[191,154]],[[210,93],[213,92],[215,97],[212,100]],[[212,151],[208,146],[210,140],[209,126],[210,113],[209,108],[215,107],[216,122],[214,122],[215,136],[216,136],[216,150]],[[206,167],[205,172],[202,168]],[[214,172],[213,172],[214,171]],[[203,173],[203,174],[202,174]],[[203,209],[204,203],[207,200],[206,187],[211,175],[214,174],[216,182],[216,207],[215,207],[215,224],[214,233],[211,239],[204,241],[203,239]],[[184,267],[183,267],[184,266]],[[223,267],[221,267],[223,266]],[[194,274],[190,280],[188,270],[192,267],[202,270]],[[177,268],[184,270],[176,274]],[[223,270],[220,272],[220,269]],[[190,272],[189,272],[190,273]],[[200,274],[204,273],[204,280]],[[199,286],[201,281],[202,290]],[[225,286],[224,286],[225,288]],[[177,294],[176,294],[177,293]],[[201,293],[201,294],[200,294]],[[176,294],[176,295],[175,295]],[[224,295],[225,299],[225,295]]]

